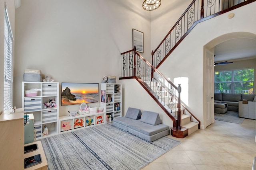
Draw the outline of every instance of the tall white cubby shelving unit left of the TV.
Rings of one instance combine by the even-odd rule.
[[[27,97],[25,90],[41,89],[36,96]],[[55,100],[55,107],[44,108],[49,99]],[[33,113],[36,139],[58,135],[59,123],[59,82],[22,82],[22,107],[24,112]],[[43,136],[44,126],[48,135]]]

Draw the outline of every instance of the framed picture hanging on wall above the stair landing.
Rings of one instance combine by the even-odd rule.
[[[144,53],[143,39],[143,32],[138,31],[136,29],[132,29],[132,47],[136,46],[137,52]]]

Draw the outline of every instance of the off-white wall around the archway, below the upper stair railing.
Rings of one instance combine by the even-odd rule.
[[[229,13],[226,13],[197,24],[159,68],[160,72],[166,77],[170,77],[172,82],[177,77],[188,78],[188,109],[200,119],[201,128],[203,129],[205,128],[203,94],[204,45],[216,37],[221,38],[222,35],[227,33],[249,32],[256,34],[256,18],[248,17],[256,15],[255,8],[256,2],[253,2],[233,10],[232,12],[234,12],[235,16],[232,19],[228,19]],[[166,22],[163,20],[158,25],[165,24]],[[155,40],[158,40],[158,38],[152,34],[151,41]]]

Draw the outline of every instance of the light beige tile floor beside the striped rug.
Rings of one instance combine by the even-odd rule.
[[[252,170],[256,156],[255,120],[215,121],[199,129],[142,170]]]

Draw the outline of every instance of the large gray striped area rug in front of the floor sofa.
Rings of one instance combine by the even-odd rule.
[[[147,142],[111,124],[40,141],[48,170],[139,170],[180,144],[169,137]]]

